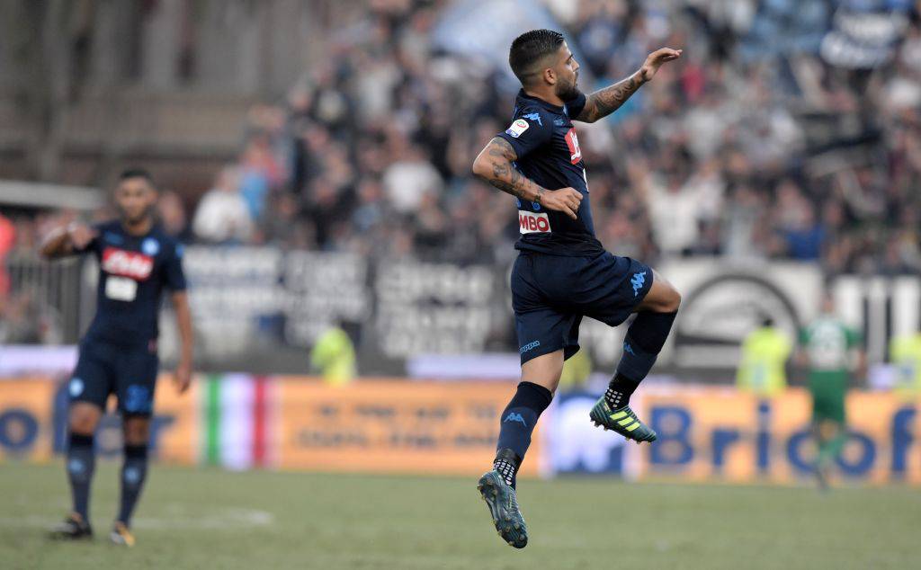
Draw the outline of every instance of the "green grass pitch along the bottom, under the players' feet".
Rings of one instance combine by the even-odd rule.
[[[4,568],[907,568],[921,494],[810,488],[521,481],[530,529],[495,536],[476,477],[227,473],[154,466],[138,544],[107,542],[117,465],[93,487],[91,542],[45,538],[68,505],[60,463],[0,464]],[[602,562],[607,561],[607,562]]]

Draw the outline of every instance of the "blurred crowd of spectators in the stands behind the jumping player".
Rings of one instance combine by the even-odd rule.
[[[192,212],[165,193],[169,231],[435,262],[510,258],[513,199],[470,166],[507,127],[514,93],[507,70],[437,49],[432,31],[452,4],[376,0],[361,21],[332,31],[328,57],[283,104],[251,110],[239,160]],[[649,262],[815,261],[830,274],[921,270],[913,3],[547,5],[589,72],[587,92],[661,46],[684,49],[609,119],[577,125],[609,250]],[[845,8],[894,22],[879,62],[842,64],[827,52]]]

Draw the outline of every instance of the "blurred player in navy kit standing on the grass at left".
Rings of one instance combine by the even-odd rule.
[[[157,318],[163,287],[181,337],[175,381],[180,392],[192,380],[192,317],[182,274],[182,247],[157,225],[157,190],[143,169],[125,170],[115,189],[120,219],[93,227],[71,225],[52,232],[41,253],[48,258],[92,251],[99,260],[96,318],[80,343],[68,385],[70,407],[67,476],[73,512],[52,529],[52,537],[92,537],[89,486],[95,454],[93,437],[106,401],[114,393],[122,414],[122,496],[110,539],[134,545],[131,515],[147,471],[147,440],[157,380]]]

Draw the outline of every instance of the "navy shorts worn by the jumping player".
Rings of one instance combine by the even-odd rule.
[[[578,326],[591,317],[616,327],[652,286],[645,264],[605,251],[565,257],[522,251],[512,267],[512,308],[521,364],[563,349],[578,352]]]

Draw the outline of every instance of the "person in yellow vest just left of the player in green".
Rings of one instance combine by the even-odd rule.
[[[739,390],[752,392],[763,398],[776,396],[787,390],[787,358],[793,342],[774,326],[770,317],[762,326],[750,332],[741,346],[741,362],[736,375]]]

